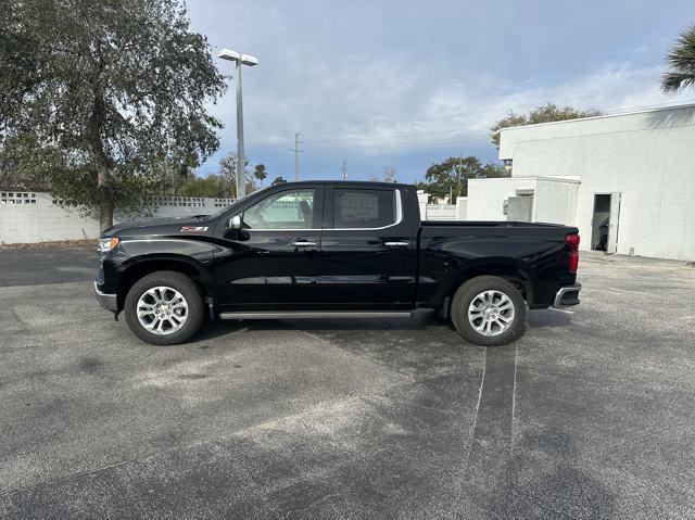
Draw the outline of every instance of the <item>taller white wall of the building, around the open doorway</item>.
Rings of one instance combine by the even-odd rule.
[[[695,105],[504,129],[500,158],[513,178],[580,178],[586,239],[594,194],[619,192],[618,253],[695,259]]]

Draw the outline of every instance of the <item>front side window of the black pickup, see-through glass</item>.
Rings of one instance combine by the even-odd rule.
[[[315,190],[281,191],[243,212],[249,229],[313,229]]]

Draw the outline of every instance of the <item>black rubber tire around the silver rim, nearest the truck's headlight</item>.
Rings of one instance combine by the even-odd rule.
[[[180,329],[164,334],[156,334],[146,329],[138,319],[138,301],[147,291],[156,287],[167,287],[178,291],[188,305],[186,320]],[[161,270],[139,279],[128,291],[124,314],[126,322],[135,335],[153,345],[178,345],[185,343],[198,332],[204,318],[203,295],[198,284],[181,272]],[[168,321],[173,324],[173,321]]]

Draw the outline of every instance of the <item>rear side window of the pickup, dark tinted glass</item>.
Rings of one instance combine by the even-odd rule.
[[[395,224],[394,190],[336,188],[336,228],[383,228]]]

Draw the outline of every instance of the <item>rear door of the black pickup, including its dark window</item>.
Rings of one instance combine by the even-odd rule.
[[[413,306],[417,231],[404,217],[396,188],[326,189],[320,297],[327,306]]]

